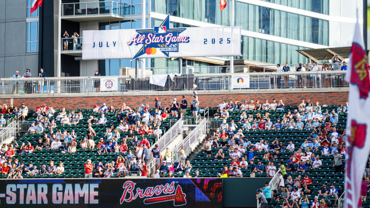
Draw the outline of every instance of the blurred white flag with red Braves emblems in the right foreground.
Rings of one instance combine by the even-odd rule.
[[[360,190],[370,150],[370,78],[357,21],[346,73],[349,84],[344,208],[360,207]]]

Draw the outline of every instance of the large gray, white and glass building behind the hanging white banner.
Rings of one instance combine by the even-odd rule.
[[[219,11],[219,0],[58,0],[44,1],[30,14],[32,0],[0,1],[0,78],[15,70],[37,74],[40,67],[48,77],[57,74],[58,39],[62,45],[62,76],[119,75],[122,67],[135,68],[130,60],[82,60],[84,30],[153,28],[170,14],[170,27],[210,27],[231,25],[231,0]],[[234,25],[242,28],[243,64],[307,63],[301,49],[350,46],[362,0],[234,0]],[[61,10],[61,29],[58,13]],[[145,12],[142,16],[142,12]],[[145,21],[143,26],[142,22]],[[69,37],[63,36],[68,31]],[[71,35],[77,32],[78,43]],[[59,34],[61,33],[61,34]],[[330,59],[329,57],[328,59]],[[225,72],[230,57],[182,57],[182,73]],[[138,67],[153,73],[177,72],[179,59],[140,59]],[[202,68],[201,68],[202,67]],[[203,68],[204,67],[204,68]]]

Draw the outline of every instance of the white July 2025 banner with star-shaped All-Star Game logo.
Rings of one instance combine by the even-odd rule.
[[[84,30],[83,60],[241,55],[241,27]]]

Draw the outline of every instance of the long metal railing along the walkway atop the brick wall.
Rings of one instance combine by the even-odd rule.
[[[275,89],[275,88],[332,88],[348,87],[345,71],[307,71],[307,72],[258,72],[235,73],[249,75],[249,88],[243,89]],[[235,76],[234,75],[234,76]],[[65,78],[3,78],[0,79],[0,94],[11,93],[86,93],[96,92],[101,79],[107,77],[65,77]],[[135,78],[131,76],[111,76],[118,79],[118,92],[152,91],[152,90],[230,90],[232,74],[181,74],[173,80],[168,77],[165,86],[150,84],[150,76]],[[105,93],[105,92],[101,92]]]

